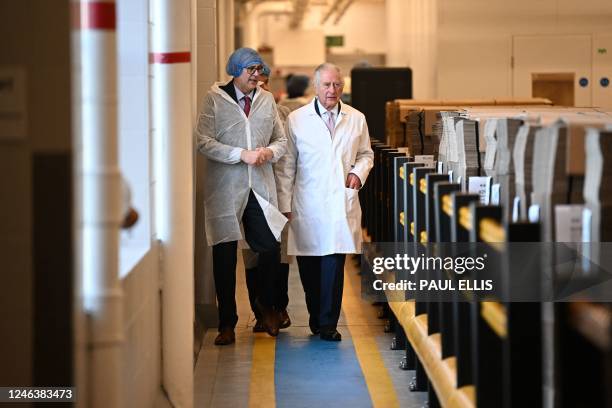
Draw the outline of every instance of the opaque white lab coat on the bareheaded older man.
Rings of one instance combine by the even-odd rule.
[[[341,104],[332,138],[313,99],[289,115],[287,128],[287,153],[275,173],[279,209],[292,213],[288,254],[361,252],[358,190],[345,183],[354,173],[363,186],[373,165],[365,116]]]

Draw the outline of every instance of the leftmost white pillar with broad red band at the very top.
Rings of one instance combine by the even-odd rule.
[[[88,323],[88,407],[121,406],[122,303],[119,285],[121,174],[117,130],[114,0],[74,3],[80,74],[83,306]],[[77,74],[78,75],[78,74]]]

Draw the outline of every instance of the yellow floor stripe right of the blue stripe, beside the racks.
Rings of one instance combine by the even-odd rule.
[[[371,319],[363,313],[360,293],[356,289],[358,281],[354,272],[344,273],[344,299],[342,309],[348,329],[351,332],[355,354],[359,360],[361,371],[365,377],[370,397],[374,407],[399,407],[399,400],[393,387],[389,372],[382,360],[378,345],[374,338],[375,333],[370,328]],[[380,325],[377,325],[381,329]]]

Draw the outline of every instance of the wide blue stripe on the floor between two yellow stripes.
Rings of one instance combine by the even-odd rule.
[[[292,327],[276,339],[275,388],[278,408],[371,407],[348,330],[341,342]]]

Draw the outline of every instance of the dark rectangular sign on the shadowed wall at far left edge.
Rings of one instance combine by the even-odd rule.
[[[26,137],[26,73],[0,67],[0,141]]]

